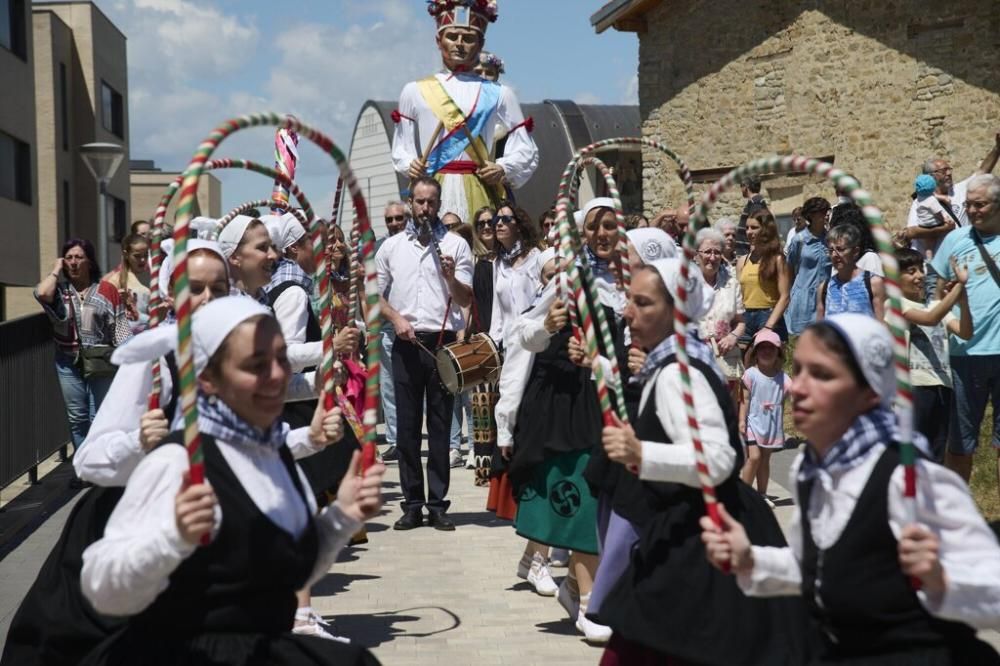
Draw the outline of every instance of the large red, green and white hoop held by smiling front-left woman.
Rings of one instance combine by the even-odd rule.
[[[193,213],[194,201],[197,195],[198,181],[205,171],[205,164],[218,145],[235,132],[249,127],[257,126],[280,126],[288,130],[297,132],[300,136],[315,143],[321,150],[329,154],[337,163],[341,176],[347,184],[348,190],[354,202],[354,208],[360,218],[362,229],[362,242],[365,250],[365,295],[369,303],[368,311],[368,379],[365,391],[365,411],[364,411],[364,455],[363,461],[370,461],[375,456],[375,421],[378,400],[378,369],[380,361],[380,349],[378,335],[381,329],[380,308],[378,301],[378,287],[375,276],[375,262],[371,250],[374,248],[374,233],[371,230],[371,223],[368,219],[368,208],[354,172],[351,170],[344,153],[326,135],[318,132],[312,127],[300,122],[292,116],[281,116],[275,113],[258,113],[240,116],[227,120],[213,130],[208,137],[198,146],[194,157],[185,169],[183,183],[181,185],[180,201],[177,209],[177,224],[174,227],[174,265],[177,266],[179,277],[175,284],[174,302],[176,304],[178,319],[178,350],[177,363],[180,367],[180,389],[181,389],[181,414],[184,422],[184,444],[188,450],[191,460],[191,480],[193,483],[204,480],[204,457],[201,449],[201,434],[198,431],[198,408],[196,404],[196,387],[194,363],[191,346],[191,290],[187,276],[187,242],[188,229]],[[313,235],[314,251],[317,244],[323,244],[323,234]],[[325,254],[324,254],[325,256]],[[317,266],[317,279],[322,284],[324,279],[329,280],[326,275],[326,262],[321,261]],[[324,312],[329,310],[329,289],[322,292],[322,302]],[[327,326],[329,323],[327,322]],[[326,331],[324,331],[325,333]],[[324,374],[327,365],[326,353],[327,343],[324,340]],[[332,352],[332,344],[331,349]],[[332,367],[332,360],[330,363]],[[324,391],[333,390],[332,372],[329,376],[324,376]]]

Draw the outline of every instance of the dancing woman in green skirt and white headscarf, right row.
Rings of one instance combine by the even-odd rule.
[[[617,256],[618,227],[610,199],[595,199],[581,211],[584,248],[611,322],[621,317],[625,298],[610,264]],[[535,354],[514,432],[508,473],[518,500],[515,528],[531,541],[573,551],[560,603],[589,641],[604,642],[606,627],[585,617],[597,570],[597,500],[583,472],[600,441],[601,413],[591,371],[573,363],[565,304],[549,284],[526,315],[536,325],[520,330],[519,343]],[[546,314],[542,314],[546,313]],[[543,319],[544,317],[544,319]],[[624,348],[619,340],[616,344]],[[605,356],[617,349],[601,350]],[[554,501],[550,501],[555,498]],[[579,601],[577,601],[579,599]]]

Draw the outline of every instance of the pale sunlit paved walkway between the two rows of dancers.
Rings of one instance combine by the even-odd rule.
[[[787,524],[793,508],[780,481],[793,453],[774,458],[770,493]],[[370,647],[387,666],[448,664],[596,664],[554,598],[540,597],[515,576],[524,542],[484,509],[486,489],[472,471],[452,470],[454,532],[392,530],[399,517],[398,468],[389,467],[386,507],[369,523],[370,541],[348,548],[314,588],[313,605],[336,633]],[[13,612],[62,530],[72,502],[0,561],[0,645]],[[555,569],[557,580],[565,569]],[[986,632],[1000,645],[1000,636]]]

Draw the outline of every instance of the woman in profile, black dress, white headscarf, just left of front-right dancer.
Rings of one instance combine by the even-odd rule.
[[[612,460],[636,470],[644,483],[630,504],[638,542],[600,608],[599,619],[614,629],[602,663],[800,664],[794,603],[748,604],[732,581],[704,562],[698,517],[705,504],[675,362],[679,284],[676,259],[654,262],[632,278],[626,317],[635,344],[649,351],[636,375],[642,400],[634,430],[606,426],[603,443]],[[688,315],[696,320],[712,292],[697,270],[685,290]],[[739,481],[735,412],[712,352],[693,337],[688,349],[706,473],[717,496],[759,539],[783,545],[774,515]]]

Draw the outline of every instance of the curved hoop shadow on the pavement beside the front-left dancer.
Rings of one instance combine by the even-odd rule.
[[[329,615],[338,634],[368,648],[375,648],[395,638],[426,638],[461,626],[455,613],[441,606],[418,606],[384,613],[364,615]],[[410,626],[405,626],[409,624]],[[396,626],[403,625],[403,626]]]

